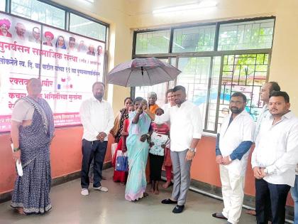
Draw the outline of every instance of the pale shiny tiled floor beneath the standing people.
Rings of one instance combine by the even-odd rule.
[[[101,184],[109,188],[107,193],[91,190],[89,196],[81,196],[79,179],[54,186],[50,194],[53,209],[45,215],[18,215],[10,208],[10,202],[1,203],[0,223],[225,223],[211,217],[211,213],[221,211],[222,201],[189,191],[186,209],[174,214],[173,205],[160,203],[170,196],[172,188],[160,188],[158,196],[149,194],[148,198],[131,202],[124,199],[125,186],[112,181],[113,170],[104,171],[104,175],[108,179]],[[255,223],[255,217],[243,210],[240,223]]]

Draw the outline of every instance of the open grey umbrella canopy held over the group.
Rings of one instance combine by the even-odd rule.
[[[125,87],[156,85],[174,80],[180,70],[158,58],[135,58],[121,63],[107,75],[109,84]]]

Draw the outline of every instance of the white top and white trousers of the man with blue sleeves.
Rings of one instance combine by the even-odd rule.
[[[250,114],[243,110],[230,125],[231,115],[223,119],[219,137],[219,149],[222,156],[229,156],[241,144],[241,142],[253,142],[255,124]],[[244,176],[248,163],[247,151],[241,160],[234,159],[231,164],[219,165],[221,176],[221,191],[223,193],[223,215],[228,222],[236,224],[241,216],[244,197]]]

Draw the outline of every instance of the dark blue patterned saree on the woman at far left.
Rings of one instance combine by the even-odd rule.
[[[22,100],[34,107],[32,124],[19,127],[19,146],[23,176],[17,176],[11,199],[12,208],[23,212],[45,213],[50,204],[50,142],[54,134],[53,113],[43,99]]]

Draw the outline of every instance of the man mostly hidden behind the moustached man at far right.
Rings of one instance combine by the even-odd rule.
[[[260,100],[263,101],[263,109],[262,112],[260,112],[258,122],[256,123],[254,140],[256,140],[258,137],[260,124],[262,124],[263,120],[266,119],[266,117],[270,116],[268,103],[269,96],[273,91],[280,91],[280,85],[278,85],[277,82],[266,82],[260,90]]]

